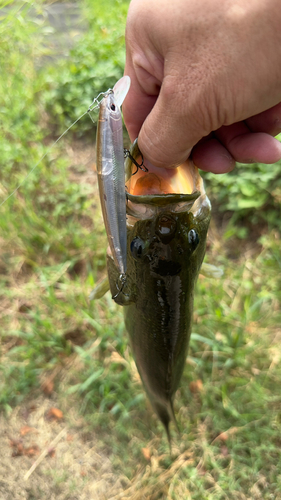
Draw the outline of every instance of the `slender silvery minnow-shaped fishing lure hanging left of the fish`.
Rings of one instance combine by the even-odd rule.
[[[123,126],[114,92],[100,103],[97,127],[97,173],[106,233],[119,275],[127,267],[126,193]]]

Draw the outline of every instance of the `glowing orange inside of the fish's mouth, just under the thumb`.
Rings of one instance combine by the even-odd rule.
[[[137,158],[138,163],[141,162]],[[178,168],[157,168],[149,162],[144,161],[148,172],[138,169],[135,175],[132,175],[128,182],[128,190],[133,195],[152,195],[152,194],[191,194],[196,190],[195,172],[191,160],[185,161]]]

